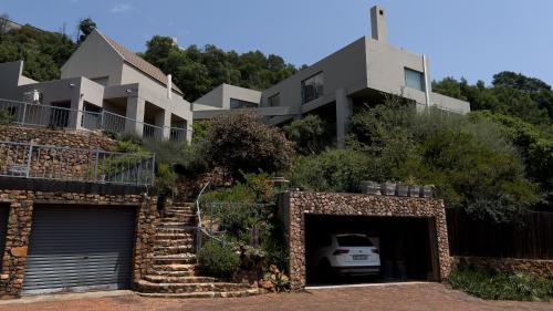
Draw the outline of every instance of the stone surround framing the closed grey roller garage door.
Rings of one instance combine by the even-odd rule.
[[[134,251],[133,280],[138,281],[152,266],[152,241],[159,219],[157,197],[144,195],[91,195],[74,193],[42,193],[32,190],[0,190],[0,204],[10,206],[6,247],[0,273],[0,298],[19,297],[23,287],[25,260],[31,235],[33,206],[84,205],[94,208],[136,207],[136,241]]]

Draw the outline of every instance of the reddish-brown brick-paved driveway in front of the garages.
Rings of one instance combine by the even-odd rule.
[[[59,298],[56,298],[59,299]],[[553,310],[549,302],[483,301],[438,283],[311,290],[237,299],[147,299],[135,294],[17,303],[0,310]]]

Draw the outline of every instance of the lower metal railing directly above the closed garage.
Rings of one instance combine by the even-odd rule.
[[[0,142],[0,176],[153,186],[155,156]]]

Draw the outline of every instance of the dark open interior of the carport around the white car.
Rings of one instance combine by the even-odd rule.
[[[432,218],[305,215],[306,284],[397,282],[439,280]],[[328,279],[330,271],[317,270],[315,252],[321,238],[332,234],[366,235],[378,249],[380,272],[374,276]],[[430,246],[432,243],[432,246]],[[328,274],[321,276],[321,272]]]

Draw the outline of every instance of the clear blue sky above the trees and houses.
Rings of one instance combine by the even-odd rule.
[[[92,18],[135,52],[160,34],[302,65],[371,35],[374,4],[387,11],[389,42],[426,54],[432,79],[489,83],[508,70],[553,84],[552,0],[0,0],[0,13],[70,35]]]

